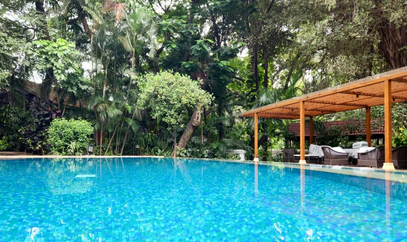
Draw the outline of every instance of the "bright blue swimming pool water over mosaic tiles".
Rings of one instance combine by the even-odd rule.
[[[27,159],[0,161],[0,188],[1,242],[407,241],[407,184],[318,171]]]

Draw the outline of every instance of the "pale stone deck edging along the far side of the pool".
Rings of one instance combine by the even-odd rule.
[[[164,158],[163,156],[0,156],[1,160],[24,160],[24,159],[57,159],[57,158],[79,158],[79,159],[105,159],[105,158]],[[274,167],[304,169],[310,171],[329,172],[350,176],[367,177],[372,179],[387,180],[392,182],[407,183],[407,170],[383,170],[381,168],[356,167],[356,166],[339,166],[339,165],[320,165],[320,164],[298,164],[286,162],[267,162],[267,161],[239,161],[239,160],[217,160],[217,159],[202,159],[202,158],[176,158],[176,159],[191,159],[204,161],[227,161],[235,163],[248,163],[258,165],[269,165]]]

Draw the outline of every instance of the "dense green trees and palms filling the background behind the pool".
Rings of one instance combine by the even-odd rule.
[[[63,116],[92,123],[99,155],[136,144],[170,155],[175,128],[179,156],[242,148],[251,159],[253,122],[241,111],[407,66],[406,12],[395,0],[0,0],[0,149],[47,153],[49,123]],[[193,84],[170,85],[170,73]],[[394,105],[396,137],[406,108]],[[315,117],[315,140],[345,147],[352,140],[321,124],[363,119]],[[291,121],[259,122],[269,160],[294,138]]]

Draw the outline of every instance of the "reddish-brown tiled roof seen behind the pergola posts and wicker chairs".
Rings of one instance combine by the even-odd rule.
[[[380,125],[381,123],[381,125]],[[329,122],[324,122],[325,127],[329,129],[330,127],[344,127],[344,132],[343,136],[347,135],[366,135],[366,124],[364,120],[360,121],[329,121]],[[351,130],[349,130],[349,128]],[[357,128],[359,126],[359,128]],[[300,124],[299,123],[292,123],[289,127],[289,133],[290,134],[295,134],[295,136],[299,137],[300,134]],[[384,134],[384,123],[382,119],[372,119],[372,124],[371,124],[371,134]],[[316,136],[318,136],[318,133],[315,132]],[[308,137],[310,136],[310,127],[308,125],[305,126],[305,136]]]

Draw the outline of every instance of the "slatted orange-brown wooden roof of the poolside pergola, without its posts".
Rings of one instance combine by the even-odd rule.
[[[350,81],[317,92],[284,100],[240,114],[242,117],[299,119],[304,101],[305,117],[342,112],[384,104],[384,81],[391,80],[392,103],[407,101],[407,67]]]

